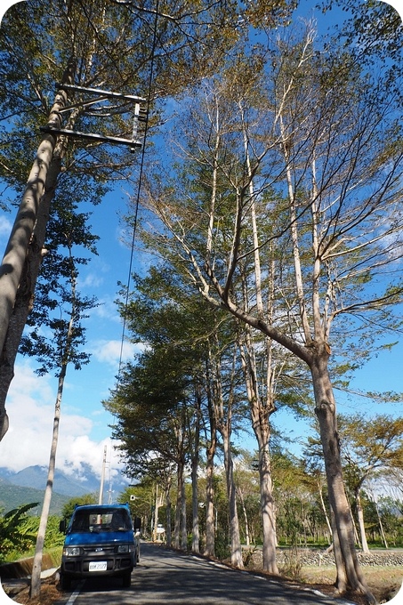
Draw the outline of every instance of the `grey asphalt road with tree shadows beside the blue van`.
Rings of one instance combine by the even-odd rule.
[[[133,569],[130,588],[122,588],[120,578],[89,578],[73,582],[71,592],[64,593],[57,605],[341,605],[342,602],[347,601],[336,601],[310,590],[143,543],[141,561]]]

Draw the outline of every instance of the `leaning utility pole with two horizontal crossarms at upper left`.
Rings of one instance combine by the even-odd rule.
[[[17,305],[19,307],[19,319],[16,319],[16,317],[14,318],[14,315],[16,315],[16,300],[18,299],[21,278],[25,273],[28,275],[27,282],[29,293],[31,294],[29,300],[33,299],[41,261],[40,259],[36,259],[36,268],[34,269],[32,254],[34,256],[35,254],[41,254],[40,248],[43,246],[46,224],[49,219],[50,204],[60,173],[61,156],[59,161],[55,161],[54,157],[57,151],[58,137],[61,136],[67,140],[69,140],[69,137],[76,137],[100,143],[127,145],[130,151],[134,152],[142,144],[141,140],[139,140],[140,122],[147,121],[147,114],[142,105],[146,101],[145,99],[131,94],[112,93],[97,88],[85,88],[84,86],[74,85],[74,72],[75,64],[70,60],[61,83],[57,85],[58,92],[56,93],[47,124],[40,127],[45,136],[37,149],[34,165],[28,177],[26,190],[5,250],[3,263],[0,266],[0,440],[3,439],[9,426],[8,415],[5,411],[5,399],[12,381],[14,361],[28,317],[28,304],[30,304],[26,302],[26,296],[22,296],[24,300],[20,301]],[[69,105],[69,93],[77,93],[80,96],[80,100]],[[83,99],[83,94],[89,96],[90,99]],[[77,109],[85,113],[86,107],[102,101],[109,102],[109,100],[118,101],[125,109],[127,107],[133,108],[134,106],[131,139],[96,133],[76,132],[61,127],[64,113],[71,112],[71,110],[77,111]],[[129,109],[126,110],[129,111]],[[44,200],[46,200],[46,204]],[[45,206],[47,210],[42,212],[41,209]],[[36,250],[35,252],[33,248],[32,250],[30,249],[34,239],[37,239],[37,243],[39,244],[39,251]],[[26,309],[24,305],[27,307]],[[12,318],[14,318],[14,322],[11,326]],[[9,332],[12,335],[11,339]]]

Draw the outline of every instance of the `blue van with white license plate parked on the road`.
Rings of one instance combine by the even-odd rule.
[[[133,568],[140,561],[139,518],[130,516],[128,504],[76,506],[66,528],[60,566],[60,586],[69,590],[71,580],[81,577],[118,576],[131,585]]]

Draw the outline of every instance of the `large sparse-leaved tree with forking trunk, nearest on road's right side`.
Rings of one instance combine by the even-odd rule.
[[[397,99],[388,95],[383,77],[361,73],[348,53],[335,51],[319,50],[310,26],[294,42],[286,35],[270,41],[267,55],[261,55],[267,67],[262,70],[266,105],[255,103],[247,122],[252,171],[245,150],[241,152],[245,120],[237,122],[236,85],[229,87],[220,124],[215,118],[220,97],[213,88],[204,97],[204,111],[195,101],[189,118],[182,118],[181,155],[188,153],[184,161],[193,179],[190,187],[186,190],[180,179],[170,188],[160,180],[150,182],[145,202],[163,222],[170,250],[176,244],[177,254],[186,256],[192,287],[309,368],[334,512],[337,586],[341,592],[350,586],[372,602],[359,570],[343,487],[331,367],[343,351],[354,351],[361,362],[375,346],[376,335],[399,326],[393,309],[403,292],[395,273],[403,232],[401,124]],[[212,136],[218,128],[219,154]],[[191,136],[195,132],[197,140]],[[204,182],[212,191],[217,188],[210,206],[197,196],[195,164],[206,166],[210,176]],[[245,258],[254,254],[254,246],[246,246],[243,238],[254,175],[259,182],[255,197],[276,192],[257,224],[270,222],[274,213],[275,232],[269,238],[263,234],[259,246],[276,246],[281,258],[277,287],[287,309],[284,325],[277,315],[262,319],[243,304],[239,274]],[[226,208],[230,199],[231,214]],[[333,358],[331,329],[337,339]]]

